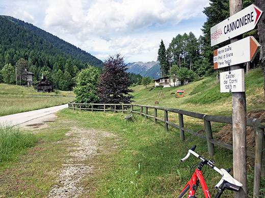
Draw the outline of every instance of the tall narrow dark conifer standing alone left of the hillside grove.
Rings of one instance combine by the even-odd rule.
[[[168,75],[168,71],[169,71],[169,62],[167,60],[167,55],[166,55],[166,47],[164,45],[163,40],[161,40],[159,49],[158,49],[158,56],[157,56],[157,60],[160,63],[160,67],[161,67],[161,77],[164,77],[166,75]]]

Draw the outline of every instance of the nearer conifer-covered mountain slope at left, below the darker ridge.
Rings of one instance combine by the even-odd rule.
[[[11,17],[0,15],[0,83],[25,85],[25,71],[29,71],[34,74],[33,85],[37,85],[44,75],[56,89],[71,90],[77,73],[87,67],[87,62],[79,59],[78,50],[77,57],[69,55],[8,18]],[[102,61],[100,64],[94,64],[93,60],[88,63],[98,68],[103,65]]]

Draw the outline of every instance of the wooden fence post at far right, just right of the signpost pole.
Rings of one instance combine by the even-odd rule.
[[[264,130],[254,126],[255,135],[256,135],[256,150],[255,150],[255,168],[254,168],[254,188],[253,188],[253,197],[259,197],[259,187],[260,187],[260,176],[262,168],[262,149],[263,149],[263,139],[264,139]]]

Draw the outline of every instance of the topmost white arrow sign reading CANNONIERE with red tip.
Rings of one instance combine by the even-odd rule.
[[[210,28],[211,46],[232,39],[254,29],[262,11],[252,4]]]

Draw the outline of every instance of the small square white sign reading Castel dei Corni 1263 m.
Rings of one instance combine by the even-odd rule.
[[[220,91],[224,92],[244,92],[245,75],[244,69],[232,70],[220,73]]]

